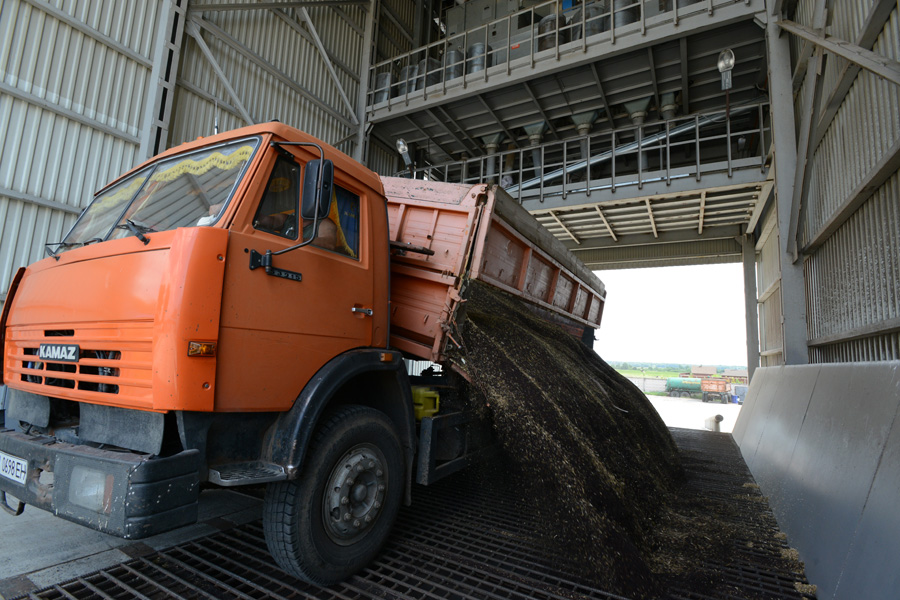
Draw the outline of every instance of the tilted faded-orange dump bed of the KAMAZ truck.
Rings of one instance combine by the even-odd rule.
[[[522,298],[579,337],[599,327],[603,282],[502,188],[382,181],[390,239],[433,252],[392,252],[392,346],[443,360],[470,280]]]

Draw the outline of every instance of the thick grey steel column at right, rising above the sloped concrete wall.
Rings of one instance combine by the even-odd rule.
[[[803,264],[789,252],[791,203],[797,172],[797,140],[794,125],[791,47],[774,19],[766,26],[769,53],[769,101],[772,111],[772,141],[775,145],[775,208],[778,215],[778,249],[781,263],[781,313],[786,365],[806,364],[806,289]]]

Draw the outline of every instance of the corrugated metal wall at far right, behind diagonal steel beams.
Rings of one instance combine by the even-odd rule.
[[[808,1],[799,6],[800,23],[811,24],[813,5]],[[855,41],[874,9],[871,0],[836,2],[827,33]],[[896,6],[872,51],[900,59]],[[823,98],[835,89],[846,66],[844,59],[828,55]],[[900,141],[898,106],[900,86],[860,71],[814,153],[801,247],[894,151]],[[900,176],[894,173],[815,248],[804,268],[812,362],[900,358]]]

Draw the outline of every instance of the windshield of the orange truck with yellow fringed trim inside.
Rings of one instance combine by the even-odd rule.
[[[160,161],[97,196],[60,248],[177,227],[213,225],[259,139],[240,140]]]

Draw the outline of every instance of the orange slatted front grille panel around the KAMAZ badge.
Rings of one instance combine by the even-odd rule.
[[[149,408],[152,323],[90,324],[76,329],[11,327],[7,378],[21,388],[68,400]],[[78,360],[40,356],[41,344],[78,346]],[[18,386],[17,386],[18,387]]]

